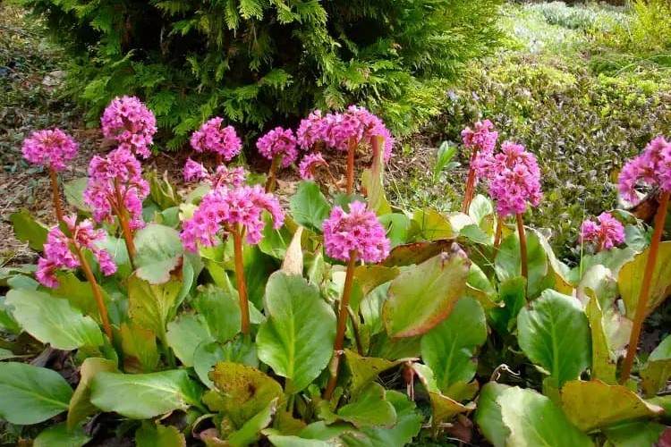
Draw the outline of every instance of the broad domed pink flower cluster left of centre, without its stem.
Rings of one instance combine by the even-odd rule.
[[[196,251],[198,244],[211,247],[216,242],[217,232],[228,233],[237,225],[246,232],[247,242],[258,244],[264,228],[264,211],[270,213],[274,228],[285,222],[285,214],[275,196],[264,192],[259,185],[211,190],[191,219],[183,223],[180,236],[184,248]]]

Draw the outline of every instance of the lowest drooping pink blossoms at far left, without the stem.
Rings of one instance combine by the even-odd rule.
[[[103,274],[107,276],[114,274],[116,265],[109,252],[96,245],[96,242],[105,239],[105,232],[94,230],[93,223],[89,219],[77,224],[76,215],[64,217],[63,220],[72,234],[72,239],[65,236],[57,225],[49,230],[47,242],[44,244],[44,257],[39,258],[38,270],[35,273],[38,281],[46,287],[58,287],[56,270],[73,269],[80,266],[80,259],[72,253],[71,244],[75,246],[75,249],[89,249],[98,261]]]

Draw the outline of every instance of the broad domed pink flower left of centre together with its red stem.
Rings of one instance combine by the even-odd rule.
[[[285,222],[285,214],[275,196],[266,193],[259,185],[219,187],[203,197],[191,219],[184,221],[180,234],[184,248],[191,252],[197,251],[199,245],[215,245],[217,234],[233,235],[235,280],[244,334],[250,332],[250,309],[242,263],[242,238],[251,245],[259,243],[264,228],[264,212],[270,214],[276,229]]]

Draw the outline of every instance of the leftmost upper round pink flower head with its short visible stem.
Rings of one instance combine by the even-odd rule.
[[[77,148],[77,142],[60,129],[35,131],[23,140],[23,157],[32,164],[44,166],[49,172],[57,222],[63,221],[58,172],[63,171],[66,164],[77,155]]]

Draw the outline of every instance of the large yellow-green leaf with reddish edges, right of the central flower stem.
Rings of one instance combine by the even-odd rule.
[[[452,311],[463,296],[470,261],[454,244],[451,253],[431,257],[407,269],[391,283],[382,310],[386,332],[391,337],[427,333]]]

